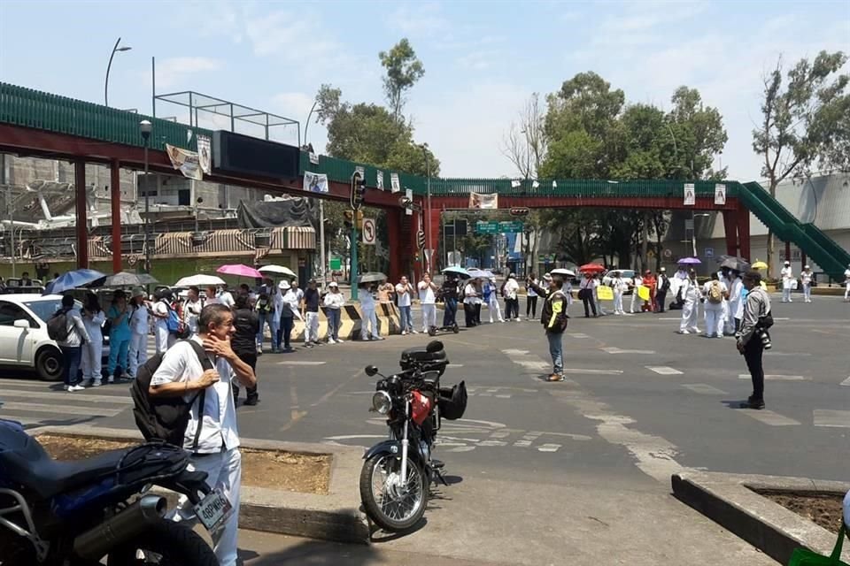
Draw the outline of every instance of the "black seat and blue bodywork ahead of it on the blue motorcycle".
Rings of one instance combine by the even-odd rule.
[[[24,486],[42,499],[94,484],[118,469],[127,449],[112,450],[86,460],[60,462],[28,437],[12,449],[0,450],[0,470],[10,484]]]

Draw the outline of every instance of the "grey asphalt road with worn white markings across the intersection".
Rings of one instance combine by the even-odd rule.
[[[567,551],[574,563],[708,564],[721,551],[730,563],[768,564],[673,500],[670,474],[850,478],[850,304],[775,301],[763,411],[733,408],[751,392],[734,340],[676,334],[679,311],[585,319],[573,305],[571,314],[560,383],[542,380],[551,366],[536,322],[441,336],[452,362],[444,384],[465,379],[470,393],[464,419],[439,434],[453,485],[424,528],[384,548],[511,564],[564,563]],[[369,446],[386,431],[368,412],[375,381],[363,367],[393,371],[401,349],[429,340],[262,356],[261,402],[239,408],[240,432]],[[29,424],[134,426],[126,386],[64,394],[3,379],[0,392],[4,417]]]

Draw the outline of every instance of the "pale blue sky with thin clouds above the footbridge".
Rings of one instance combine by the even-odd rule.
[[[755,180],[763,76],[780,56],[790,65],[820,50],[850,53],[850,0],[0,0],[0,80],[103,103],[118,37],[133,49],[112,63],[112,106],[151,112],[156,57],[158,95],[216,96],[296,119],[302,134],[323,83],[353,103],[384,103],[378,52],[406,37],[425,66],[406,113],[443,177],[516,175],[502,152],[511,122],[532,93],[557,91],[576,73],[599,73],[630,103],[664,109],[687,85],[723,115],[729,142],[715,166]],[[157,115],[185,112],[159,102]],[[313,122],[306,136],[321,153],[324,127]],[[277,128],[275,137],[298,136]]]

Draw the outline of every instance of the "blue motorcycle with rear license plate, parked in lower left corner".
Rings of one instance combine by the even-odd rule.
[[[186,495],[216,532],[233,509],[188,464],[186,451],[162,443],[58,462],[19,423],[0,419],[0,566],[218,566],[151,493]]]

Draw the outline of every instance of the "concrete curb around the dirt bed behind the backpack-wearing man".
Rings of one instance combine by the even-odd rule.
[[[33,435],[53,433],[110,440],[142,440],[142,435],[135,430],[85,424],[42,426],[27,432]],[[331,464],[327,495],[243,486],[239,509],[240,528],[310,539],[369,543],[367,519],[359,509],[358,483],[362,448],[276,440],[241,440],[242,447],[245,448],[282,450],[303,455],[330,455]]]

